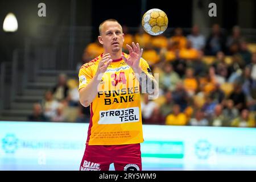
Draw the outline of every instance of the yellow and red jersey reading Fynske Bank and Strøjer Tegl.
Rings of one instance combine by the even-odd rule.
[[[123,53],[125,57],[128,55]],[[96,74],[102,55],[82,65],[79,89]],[[141,58],[140,66],[150,77],[151,70]],[[90,104],[90,123],[86,144],[115,145],[143,142],[139,81],[133,69],[121,59],[113,60],[101,78],[97,96]]]

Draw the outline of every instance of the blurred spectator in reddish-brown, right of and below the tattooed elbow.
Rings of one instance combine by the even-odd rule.
[[[168,114],[172,113],[172,110],[174,107],[174,100],[172,100],[171,90],[167,90],[164,96],[165,96],[165,102],[162,106],[160,106],[160,112],[161,112],[161,115],[163,115],[163,117],[166,118]]]

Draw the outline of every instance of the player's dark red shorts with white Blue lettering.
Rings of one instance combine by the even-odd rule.
[[[112,163],[115,171],[141,171],[141,144],[86,145],[80,171],[109,171]]]

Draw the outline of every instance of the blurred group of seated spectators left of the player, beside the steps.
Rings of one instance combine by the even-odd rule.
[[[89,122],[90,108],[79,102],[78,80],[60,74],[56,85],[33,105],[28,121]]]

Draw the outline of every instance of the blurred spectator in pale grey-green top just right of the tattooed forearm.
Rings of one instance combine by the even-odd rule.
[[[174,71],[170,63],[165,63],[163,74],[159,77],[159,87],[163,90],[175,90],[177,82],[180,81],[180,76]]]

